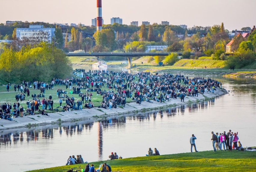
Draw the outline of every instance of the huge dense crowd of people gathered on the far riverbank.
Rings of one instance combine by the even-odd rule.
[[[76,72],[81,72],[79,77],[76,77]],[[214,92],[218,87],[221,87],[221,82],[214,79],[203,77],[189,79],[184,75],[172,75],[171,73],[153,75],[150,72],[131,74],[128,72],[76,69],[74,75],[69,79],[53,78],[50,84],[37,81],[33,83],[23,81],[20,85],[14,84],[14,91],[19,92],[15,96],[16,103],[13,106],[7,103],[7,109],[5,107],[1,109],[0,105],[0,117],[11,120],[11,117],[23,117],[24,114],[34,115],[36,111],[47,114],[45,110],[54,110],[54,102],[51,95],[48,99],[45,97],[45,90],[52,90],[56,85],[66,85],[66,89],[71,90],[69,93],[72,96],[70,97],[66,90],[56,89],[56,95],[59,98],[57,108],[62,108],[63,111],[82,110],[83,107],[93,108],[92,92],[102,96],[99,108],[111,110],[121,105],[125,107],[127,98],[131,98],[139,104],[142,102],[153,103],[154,101],[169,102],[171,99],[177,99],[177,97],[184,102],[185,96],[198,96],[198,93]],[[8,84],[8,91],[10,87],[11,84]],[[32,94],[32,100],[28,100],[29,89],[33,88],[39,90],[40,93]],[[76,101],[75,94],[78,96]],[[40,100],[41,98],[42,100]],[[26,99],[26,107],[21,108],[20,103]]]

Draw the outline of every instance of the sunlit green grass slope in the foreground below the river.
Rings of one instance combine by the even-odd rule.
[[[193,150],[194,151],[194,150]],[[111,166],[112,171],[124,172],[163,172],[163,171],[255,171],[256,152],[252,151],[203,151],[198,153],[180,153],[162,156],[145,156],[116,159],[102,162],[90,162],[98,168],[102,163]],[[81,165],[85,168],[86,164]],[[70,168],[77,170],[80,165],[61,166],[34,170],[32,172],[66,172]]]

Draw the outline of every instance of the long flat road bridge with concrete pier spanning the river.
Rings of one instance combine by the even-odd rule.
[[[120,56],[128,58],[128,68],[132,66],[132,58],[139,56],[167,56],[170,52],[93,52],[93,53],[67,53],[67,56]],[[182,55],[182,52],[175,52],[179,56]],[[194,55],[194,52],[190,52],[191,55]]]

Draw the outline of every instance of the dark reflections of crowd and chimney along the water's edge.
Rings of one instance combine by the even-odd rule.
[[[150,121],[151,119],[157,122],[157,116],[160,118],[166,117],[175,117],[176,115],[184,115],[185,111],[190,113],[196,112],[199,110],[204,110],[209,107],[212,107],[215,103],[215,99],[209,101],[203,101],[198,103],[191,103],[188,105],[181,105],[175,108],[168,108],[166,110],[155,111],[147,114],[138,114],[132,116],[120,116],[109,118],[108,120],[102,120],[95,122],[97,126],[97,137],[98,137],[98,160],[101,161],[102,151],[103,151],[103,132],[108,128],[125,128],[125,124],[128,121],[139,121],[145,122]],[[84,135],[84,132],[91,131],[93,129],[94,122],[79,124],[79,125],[70,125],[70,126],[60,126],[55,128],[47,129],[30,129],[26,132],[12,132],[4,135],[0,135],[0,144],[2,147],[5,145],[17,142],[23,142],[25,139],[27,142],[36,142],[39,139],[53,139],[54,135],[61,136],[62,132],[66,133],[67,137],[72,137],[73,135]],[[25,138],[23,137],[25,135]]]

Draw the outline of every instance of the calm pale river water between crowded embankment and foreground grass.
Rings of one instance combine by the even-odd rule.
[[[256,80],[212,77],[229,94],[210,101],[163,111],[130,114],[56,128],[17,129],[0,133],[0,171],[27,171],[65,165],[70,155],[84,161],[107,160],[111,152],[123,158],[145,156],[148,148],[160,154],[213,150],[211,132],[238,132],[243,147],[255,146]],[[193,150],[194,151],[194,150]]]

